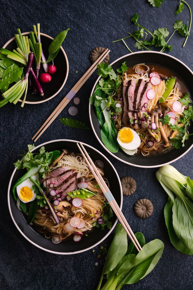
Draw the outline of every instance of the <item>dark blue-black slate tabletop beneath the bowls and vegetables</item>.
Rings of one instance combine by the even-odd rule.
[[[16,28],[30,31],[32,25],[40,22],[41,31],[54,37],[58,32],[69,27],[63,48],[69,60],[69,76],[63,90],[49,102],[40,105],[6,105],[1,108],[1,263],[0,288],[29,289],[96,289],[102,266],[97,262],[96,254],[87,251],[72,256],[59,256],[44,252],[27,242],[14,226],[7,207],[7,188],[14,169],[12,163],[17,160],[21,149],[31,143],[32,135],[67,94],[82,74],[89,68],[89,53],[96,46],[111,49],[110,61],[128,53],[121,43],[111,41],[126,36],[126,31],[133,32],[135,27],[130,18],[137,11],[140,23],[150,30],[167,26],[172,32],[176,19],[189,20],[189,11],[185,7],[180,16],[175,16],[179,1],[166,0],[161,8],[152,8],[147,0],[115,1],[1,1],[1,39],[0,46],[16,33]],[[191,3],[191,1],[189,1]],[[191,3],[192,4],[192,3]],[[193,6],[192,6],[193,7]],[[175,34],[172,39],[171,55],[179,58],[193,69],[192,34],[185,48],[183,40]],[[127,41],[133,50],[134,42]],[[78,70],[78,73],[76,73]],[[89,124],[88,98],[97,78],[93,73],[87,83],[78,92],[81,101],[78,105],[77,119]],[[70,105],[69,105],[70,106]],[[69,117],[67,109],[60,117]],[[123,289],[160,290],[192,289],[191,256],[186,256],[174,249],[166,229],[163,208],[167,200],[155,178],[156,169],[140,169],[128,166],[114,159],[100,146],[92,131],[81,131],[64,127],[59,119],[47,129],[37,145],[53,139],[76,139],[88,143],[104,153],[113,163],[120,178],[129,175],[137,182],[137,190],[130,197],[124,197],[123,213],[134,232],[144,233],[146,241],[161,239],[165,249],[156,268],[137,284],[124,286]],[[192,150],[173,165],[185,175],[193,178]],[[133,212],[133,205],[139,198],[149,198],[154,211],[150,218],[139,219]],[[113,234],[106,239],[109,246]]]

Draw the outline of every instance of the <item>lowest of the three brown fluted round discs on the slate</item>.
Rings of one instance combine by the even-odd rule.
[[[148,218],[153,212],[153,204],[146,198],[140,199],[135,203],[134,211],[139,218]]]

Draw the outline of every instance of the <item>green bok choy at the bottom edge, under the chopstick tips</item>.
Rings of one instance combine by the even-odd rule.
[[[117,229],[124,230],[122,225],[117,224],[115,238],[109,248],[106,260],[108,258],[108,267],[106,262],[102,272],[102,277],[98,284],[97,290],[100,289],[103,275],[107,274],[107,281],[101,290],[120,290],[124,284],[133,284],[147,276],[156,266],[161,258],[164,244],[156,239],[145,244],[145,238],[142,233],[136,233],[142,251],[138,252],[132,242],[127,248],[127,238],[122,232],[122,239],[118,236]],[[123,235],[124,234],[124,235]],[[117,245],[118,244],[118,245]],[[120,253],[119,251],[122,252]],[[119,255],[117,255],[117,253]],[[116,256],[115,256],[116,254]],[[111,257],[111,259],[109,259]]]

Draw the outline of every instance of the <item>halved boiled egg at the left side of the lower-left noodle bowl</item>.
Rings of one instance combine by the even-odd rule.
[[[32,178],[36,180],[37,176],[33,175]],[[33,182],[28,178],[16,187],[17,195],[24,203],[33,201],[36,198],[36,193],[32,189],[33,185]]]

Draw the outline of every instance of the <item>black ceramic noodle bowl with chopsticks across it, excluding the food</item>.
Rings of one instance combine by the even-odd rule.
[[[41,144],[33,149],[33,152],[38,152],[38,149],[41,146],[45,146],[46,151],[54,151],[54,150],[62,150],[62,148],[67,148],[69,151],[73,152],[79,152],[78,147],[76,145],[77,141],[73,140],[54,140],[50,142],[46,142],[44,144]],[[84,143],[83,143],[84,144]],[[122,187],[120,183],[119,176],[111,164],[109,160],[98,150],[94,149],[93,147],[84,144],[86,150],[88,153],[90,153],[90,156],[93,160],[101,160],[104,163],[104,172],[106,177],[108,178],[110,185],[111,185],[111,192],[115,197],[115,200],[117,201],[117,204],[120,206],[120,209],[122,208]],[[14,170],[8,187],[8,206],[11,218],[16,226],[16,228],[19,230],[19,232],[28,240],[30,243],[32,243],[34,246],[55,254],[61,254],[61,255],[69,255],[69,254],[76,254],[81,253],[84,251],[87,251],[99,243],[101,243],[113,230],[117,223],[116,216],[114,215],[111,219],[112,221],[112,228],[105,229],[104,231],[101,231],[100,229],[96,229],[93,232],[91,232],[88,237],[83,237],[80,242],[73,242],[73,241],[66,241],[62,242],[60,244],[53,244],[51,240],[47,240],[42,235],[34,231],[32,227],[27,223],[25,216],[23,213],[16,207],[15,200],[12,195],[12,187],[15,184],[15,182],[25,173],[26,171],[24,169],[22,170]]]

